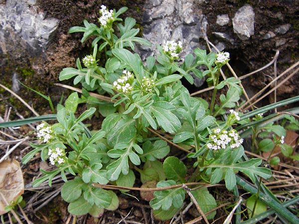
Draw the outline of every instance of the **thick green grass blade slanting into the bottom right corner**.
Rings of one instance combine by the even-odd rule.
[[[241,186],[245,191],[250,192],[251,194],[257,194],[258,189],[241,179],[239,176],[236,176],[236,181],[237,184]],[[272,197],[260,192],[259,199],[271,209],[273,209],[275,213],[286,219],[291,224],[299,224],[299,219],[281,203],[273,200]]]

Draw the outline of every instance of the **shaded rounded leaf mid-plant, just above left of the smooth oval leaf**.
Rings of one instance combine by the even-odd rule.
[[[142,149],[144,153],[140,155],[140,158],[147,158],[147,160],[154,161],[156,159],[164,158],[170,151],[167,142],[164,140],[156,140],[153,144],[150,141],[146,141]]]

